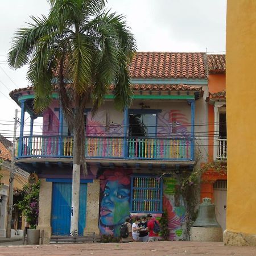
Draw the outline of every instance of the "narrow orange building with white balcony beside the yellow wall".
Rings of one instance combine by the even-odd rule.
[[[201,178],[201,199],[210,197],[216,205],[216,218],[226,228],[226,173],[216,170],[214,163],[225,164],[226,142],[226,57],[207,55],[208,67],[208,163]],[[219,168],[218,168],[219,169]]]

